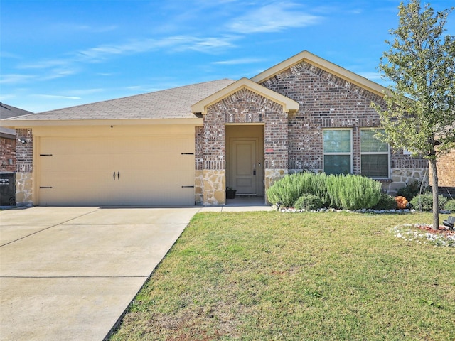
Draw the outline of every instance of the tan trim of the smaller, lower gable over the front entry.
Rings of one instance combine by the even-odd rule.
[[[210,105],[215,104],[221,99],[228,97],[231,94],[242,89],[248,89],[270,99],[273,102],[281,104],[284,112],[292,112],[299,109],[299,103],[295,102],[293,99],[285,97],[278,92],[274,92],[273,90],[267,89],[267,87],[263,87],[262,85],[259,85],[256,82],[253,82],[252,80],[244,77],[240,80],[237,80],[237,82],[228,85],[224,89],[215,92],[214,94],[210,94],[210,96],[205,97],[196,104],[193,104],[191,106],[191,111],[194,113],[200,112],[202,114],[207,114],[207,108],[210,107]]]

